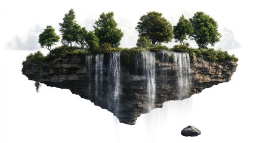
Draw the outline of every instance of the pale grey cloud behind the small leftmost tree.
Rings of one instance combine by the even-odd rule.
[[[12,50],[35,50],[39,49],[40,45],[38,43],[38,36],[44,29],[35,24],[26,35],[23,36],[14,36],[11,41],[5,43],[5,49],[12,49]]]

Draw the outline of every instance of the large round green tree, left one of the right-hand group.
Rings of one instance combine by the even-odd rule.
[[[140,17],[137,27],[139,37],[146,37],[152,44],[161,44],[162,42],[171,42],[173,38],[172,25],[162,13],[151,11]]]

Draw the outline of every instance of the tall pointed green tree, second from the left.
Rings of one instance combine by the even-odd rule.
[[[60,32],[62,39],[67,42],[67,46],[72,47],[72,42],[78,42],[79,39],[79,26],[75,21],[76,15],[73,9],[69,13],[65,14],[63,18],[63,23],[60,24]]]

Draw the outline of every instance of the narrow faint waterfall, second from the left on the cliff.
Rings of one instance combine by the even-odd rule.
[[[103,58],[104,54],[95,56],[95,104],[98,104],[98,96],[103,94]]]

